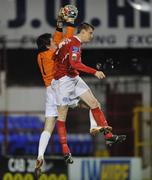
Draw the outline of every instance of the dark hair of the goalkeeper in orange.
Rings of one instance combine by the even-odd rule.
[[[50,45],[50,39],[52,38],[52,34],[44,33],[40,35],[37,40],[36,44],[39,51],[45,51],[47,50],[47,46]]]

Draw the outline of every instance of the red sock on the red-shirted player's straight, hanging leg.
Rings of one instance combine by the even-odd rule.
[[[63,154],[70,153],[69,147],[67,145],[67,132],[64,121],[57,120],[57,132],[59,135]]]

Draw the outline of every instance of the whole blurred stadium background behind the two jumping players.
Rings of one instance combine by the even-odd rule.
[[[67,129],[74,164],[64,164],[55,130],[40,179],[151,180],[151,0],[0,0],[0,178],[34,179],[45,108],[35,38],[54,32],[57,11],[70,3],[78,7],[77,24],[95,27],[94,40],[83,46],[83,62],[94,68],[101,63],[107,77],[81,76],[114,133],[126,134],[127,141],[106,147],[101,135],[89,134],[88,110],[71,109]]]

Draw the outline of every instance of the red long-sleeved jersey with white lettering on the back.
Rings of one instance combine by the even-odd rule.
[[[62,41],[55,52],[56,70],[55,79],[67,75],[75,77],[79,75],[78,71],[83,71],[89,74],[95,74],[96,70],[84,65],[81,62],[81,42],[76,37],[65,39]]]

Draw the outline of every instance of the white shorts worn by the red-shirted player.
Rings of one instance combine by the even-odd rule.
[[[53,83],[52,86],[56,93],[56,101],[58,105],[77,104],[79,96],[90,89],[79,76],[74,78],[64,76],[59,80],[55,80],[55,83]]]

